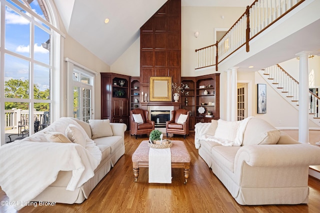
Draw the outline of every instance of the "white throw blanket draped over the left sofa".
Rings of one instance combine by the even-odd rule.
[[[60,118],[44,130],[64,132],[69,123],[78,125]],[[75,143],[45,142],[43,135],[40,131],[0,147],[0,186],[10,202],[18,204],[16,210],[52,184],[59,171],[72,171],[66,190],[74,191],[94,176],[101,161],[101,151],[91,139],[83,148]]]

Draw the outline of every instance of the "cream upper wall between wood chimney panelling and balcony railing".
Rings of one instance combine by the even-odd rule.
[[[244,7],[182,7],[181,76],[199,76],[215,72],[212,68],[194,70],[195,49],[214,44],[214,28],[230,28],[244,11]],[[195,31],[199,32],[197,38],[194,37]]]

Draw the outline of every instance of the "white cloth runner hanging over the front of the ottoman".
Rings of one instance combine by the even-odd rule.
[[[171,184],[171,150],[149,149],[149,183]]]

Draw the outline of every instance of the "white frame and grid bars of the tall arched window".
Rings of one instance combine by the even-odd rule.
[[[65,38],[64,33],[62,33],[58,28],[58,16],[55,11],[54,4],[51,0],[44,0],[43,4],[48,15],[47,21],[34,12],[29,5],[24,5],[19,0],[11,0],[18,7],[22,8],[25,12],[29,13],[30,16],[25,15],[25,13],[17,11],[14,4],[6,0],[0,0],[0,84],[4,85],[5,74],[4,74],[4,58],[5,54],[9,54],[21,59],[25,59],[29,62],[29,98],[28,99],[17,99],[17,98],[5,98],[4,97],[4,86],[0,87],[0,137],[1,145],[5,144],[5,119],[4,119],[4,103],[5,102],[27,102],[29,103],[29,124],[33,123],[33,109],[34,103],[49,103],[50,104],[50,121],[53,122],[60,117],[61,112],[63,112],[63,87],[60,87],[60,82],[62,82],[62,70],[63,70],[63,38]],[[25,0],[23,0],[25,2]],[[17,54],[15,52],[5,49],[5,6],[8,5],[11,9],[20,15],[23,15],[30,21],[30,55],[29,57]],[[37,21],[41,21],[43,24],[49,27],[47,29],[42,24],[38,24]],[[34,27],[35,25],[46,32],[49,31],[50,34],[50,52],[49,52],[49,64],[34,60]],[[50,100],[34,99],[33,97],[33,64],[38,64],[50,69]],[[29,125],[30,135],[34,131],[34,126]]]

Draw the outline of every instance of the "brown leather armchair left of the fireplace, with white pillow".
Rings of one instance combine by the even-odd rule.
[[[132,109],[130,111],[130,135],[149,134],[154,130],[154,121],[148,119],[148,111]]]

